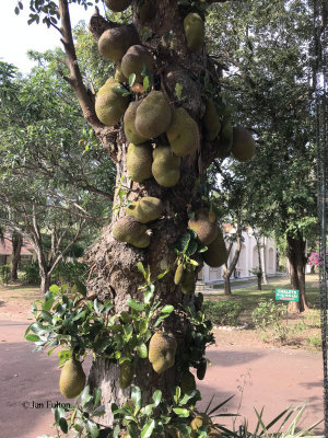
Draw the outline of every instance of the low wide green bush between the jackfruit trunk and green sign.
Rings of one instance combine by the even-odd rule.
[[[204,301],[203,312],[212,324],[215,325],[238,325],[238,316],[244,308],[235,301]]]

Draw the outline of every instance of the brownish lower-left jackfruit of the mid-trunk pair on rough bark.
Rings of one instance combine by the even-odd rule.
[[[128,216],[114,224],[113,235],[120,242],[127,242],[137,247],[149,246],[151,240],[147,233],[147,227]]]

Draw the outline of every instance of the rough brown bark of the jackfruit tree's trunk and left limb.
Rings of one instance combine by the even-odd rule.
[[[70,70],[70,77],[66,80],[75,90],[85,119],[115,161],[118,184],[121,177],[127,181],[128,143],[121,126],[106,127],[95,115],[94,97],[90,96],[83,85],[77,61],[68,1],[59,0],[59,4],[66,64]],[[137,3],[134,2],[132,2],[132,11],[133,24],[141,34],[144,25],[139,22]],[[181,104],[199,123],[204,113],[204,102],[197,78],[203,76],[206,69],[212,71],[213,77],[218,74],[218,71],[214,71],[213,66],[208,64],[204,50],[191,54],[187,49],[183,25],[186,13],[179,9],[176,0],[153,0],[152,11],[152,18],[147,23],[152,36],[148,39],[147,46],[154,55],[156,64],[154,69],[155,89],[162,90],[168,96],[173,107],[174,103],[178,102],[175,96],[175,84],[181,83],[184,96]],[[108,23],[108,26],[110,25],[113,24]],[[98,38],[102,28],[106,28],[106,26],[104,20],[99,18],[98,11],[96,11],[91,25],[94,36]],[[173,35],[173,39],[169,39],[168,35]],[[164,205],[164,217],[150,224],[152,233],[150,246],[145,250],[139,250],[115,240],[112,235],[113,224],[125,216],[124,206],[121,206],[117,216],[113,215],[112,224],[104,228],[99,241],[94,244],[86,256],[93,273],[93,278],[87,283],[89,295],[95,295],[99,300],[110,299],[114,303],[115,313],[126,310],[126,301],[129,298],[142,299],[142,292],[138,288],[144,280],[137,268],[138,262],[142,262],[150,269],[152,278],[166,268],[171,269],[163,279],[156,283],[156,301],[173,304],[177,309],[194,300],[194,298],[184,296],[180,289],[174,285],[176,253],[172,243],[187,229],[188,209],[191,207],[195,210],[202,206],[201,196],[195,188],[196,181],[203,178],[202,172],[214,157],[214,146],[201,140],[201,153],[199,150],[192,157],[188,155],[181,159],[180,180],[174,187],[161,187],[153,178],[142,184],[131,184],[129,200],[141,196],[159,197]],[[114,204],[120,205],[117,196],[114,198]],[[196,278],[197,272],[195,272]],[[178,356],[184,350],[187,332],[186,318],[180,312],[175,312],[169,319],[165,320],[165,331],[175,334],[178,342]],[[176,367],[172,367],[163,374],[156,374],[147,359],[139,359],[134,368],[134,376],[133,384],[140,387],[143,402],[151,399],[155,389],[162,390],[164,396],[171,396],[172,387],[178,384],[181,377]],[[89,383],[91,387],[101,388],[103,404],[106,406],[106,414],[102,417],[102,423],[110,425],[113,423],[110,403],[122,404],[129,397],[131,388],[120,389],[118,385],[118,365],[109,362],[105,358],[97,358],[93,362]]]

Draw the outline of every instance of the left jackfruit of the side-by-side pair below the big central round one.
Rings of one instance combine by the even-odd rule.
[[[152,176],[152,146],[130,143],[127,153],[127,170],[130,178],[142,183]]]

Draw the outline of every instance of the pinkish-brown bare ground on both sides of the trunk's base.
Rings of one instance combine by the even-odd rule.
[[[22,298],[23,297],[23,298]],[[59,369],[56,354],[33,353],[24,341],[31,322],[30,308],[39,298],[35,290],[0,287],[0,436],[36,438],[52,434],[51,404],[67,403],[58,389]],[[254,331],[215,331],[216,345],[208,349],[212,366],[206,379],[198,382],[202,393],[199,408],[204,408],[215,394],[213,405],[229,396],[234,399],[221,413],[236,413],[237,428],[244,416],[254,428],[258,411],[265,406],[265,423],[290,404],[308,402],[301,424],[309,426],[323,418],[323,366],[319,353],[262,343]],[[87,369],[85,369],[87,371]],[[219,418],[218,418],[219,419]],[[232,419],[221,424],[232,427]],[[323,427],[316,429],[323,434]]]

